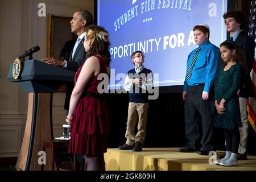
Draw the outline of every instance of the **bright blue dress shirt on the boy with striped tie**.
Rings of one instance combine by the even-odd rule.
[[[220,57],[220,49],[210,43],[209,40],[203,43],[200,48],[201,50],[192,69],[191,78],[188,81],[186,79],[184,81],[184,91],[187,91],[188,86],[205,84],[204,91],[210,92],[210,88],[214,84],[218,59]],[[187,68],[197,49],[198,48],[193,49],[193,51],[188,55]]]

